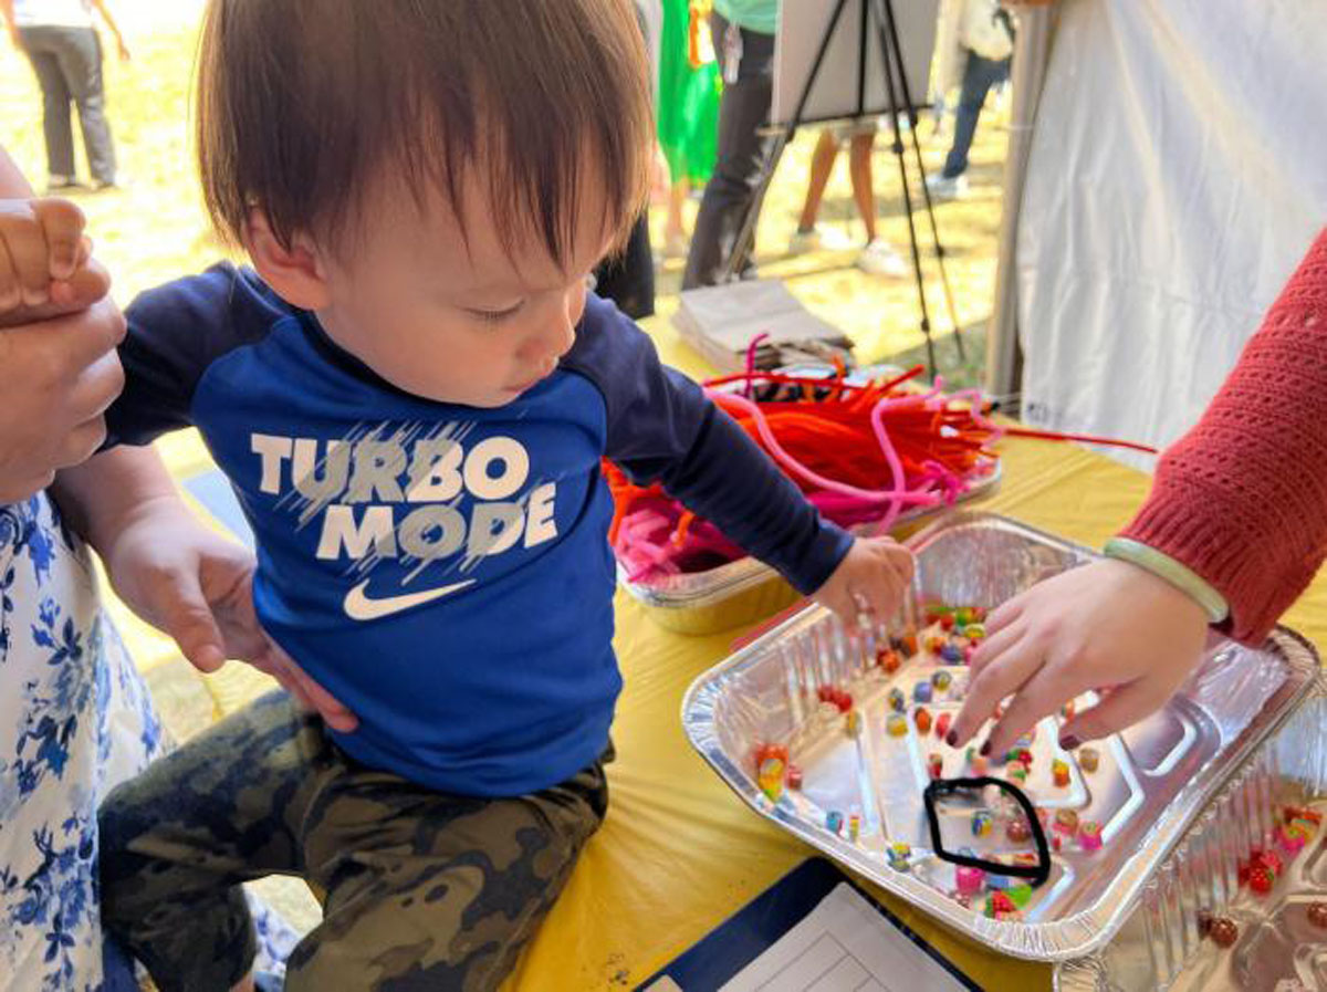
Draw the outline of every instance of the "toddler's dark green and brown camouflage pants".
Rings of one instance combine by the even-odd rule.
[[[273,692],[102,804],[104,924],[162,992],[224,992],[253,959],[239,883],[300,875],[324,920],[287,989],[492,988],[602,821],[609,759],[529,796],[453,796],[356,764]]]

